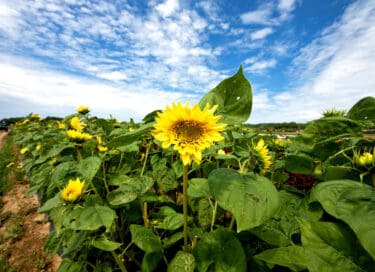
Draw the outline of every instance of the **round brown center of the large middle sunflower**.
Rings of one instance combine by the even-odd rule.
[[[204,132],[202,124],[191,120],[178,121],[173,126],[173,130],[176,133],[179,141],[192,142],[200,137]]]

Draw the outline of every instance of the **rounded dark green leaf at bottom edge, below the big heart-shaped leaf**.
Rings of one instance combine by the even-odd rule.
[[[246,271],[246,256],[242,245],[226,229],[217,229],[203,236],[193,254],[200,272]]]

